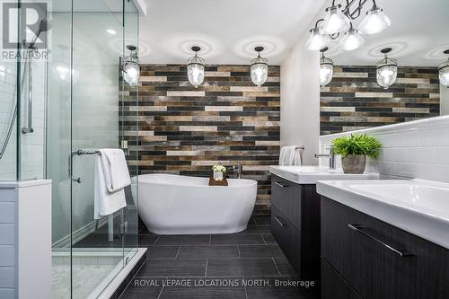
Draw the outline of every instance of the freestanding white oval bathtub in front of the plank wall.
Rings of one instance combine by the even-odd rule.
[[[257,196],[256,180],[228,180],[208,186],[207,178],[172,174],[138,176],[138,212],[158,234],[238,233],[246,229]]]

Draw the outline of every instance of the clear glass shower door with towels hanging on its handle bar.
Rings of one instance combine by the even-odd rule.
[[[95,159],[119,147],[122,1],[73,3],[72,297],[99,295],[123,267],[123,210],[94,217]],[[84,4],[85,5],[85,4]],[[85,151],[85,154],[77,154]]]

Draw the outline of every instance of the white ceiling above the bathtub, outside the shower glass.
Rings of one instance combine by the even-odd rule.
[[[249,64],[254,48],[280,65],[324,0],[145,0],[139,58],[184,64],[199,45],[207,64]]]

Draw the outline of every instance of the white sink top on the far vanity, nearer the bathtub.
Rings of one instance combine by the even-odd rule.
[[[298,184],[315,184],[317,180],[372,180],[379,177],[377,173],[347,174],[342,170],[313,165],[269,166],[269,171]]]

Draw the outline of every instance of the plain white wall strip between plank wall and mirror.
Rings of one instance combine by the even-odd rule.
[[[304,48],[307,34],[281,66],[280,142],[304,145],[303,164],[317,164],[320,136],[320,54]]]

